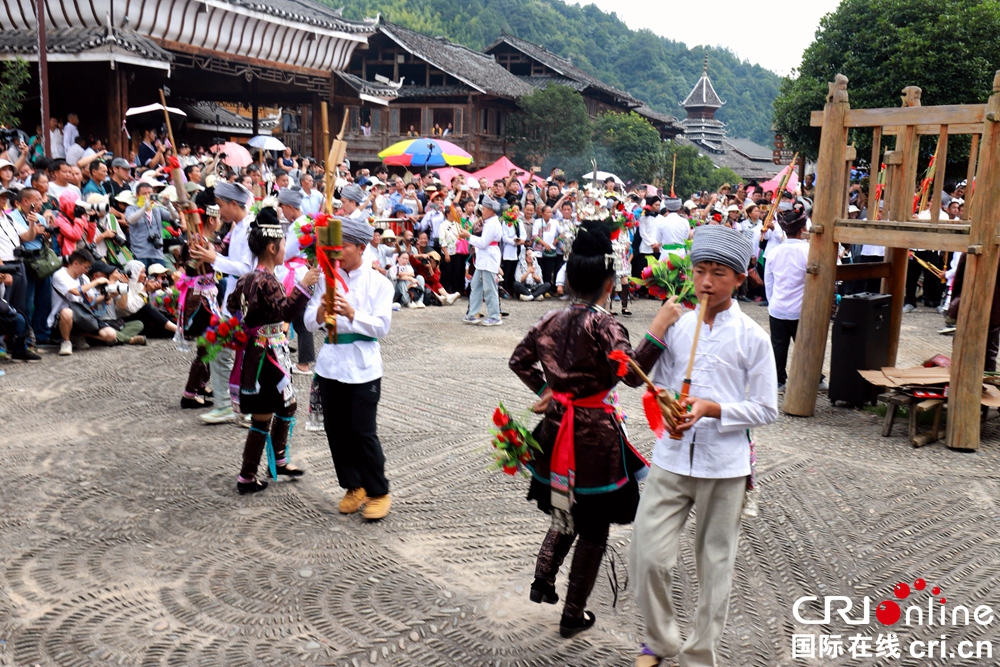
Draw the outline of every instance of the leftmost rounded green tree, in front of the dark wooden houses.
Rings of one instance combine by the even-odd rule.
[[[590,151],[590,116],[583,96],[569,86],[550,83],[518,101],[520,112],[510,125],[514,160],[545,169]]]

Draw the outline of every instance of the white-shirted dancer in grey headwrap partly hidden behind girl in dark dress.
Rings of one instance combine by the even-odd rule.
[[[219,206],[219,217],[223,222],[233,224],[229,234],[222,242],[219,252],[211,246],[191,246],[191,257],[195,261],[207,262],[217,272],[226,275],[225,296],[222,299],[222,314],[230,316],[226,308],[229,295],[236,289],[236,281],[240,276],[253,270],[257,260],[250,251],[247,234],[250,231],[250,221],[253,216],[247,213],[246,205],[253,195],[242,185],[235,183],[218,183],[215,186],[215,201]],[[222,424],[236,419],[232,402],[229,399],[229,375],[233,371],[233,351],[222,348],[219,356],[209,364],[212,371],[212,395],[215,397],[215,408],[201,415],[206,424]]]

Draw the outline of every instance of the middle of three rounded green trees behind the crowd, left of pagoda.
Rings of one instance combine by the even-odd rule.
[[[594,124],[597,168],[618,175],[626,183],[648,183],[662,165],[660,133],[633,112],[603,113]]]

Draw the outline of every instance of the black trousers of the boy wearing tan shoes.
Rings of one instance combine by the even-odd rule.
[[[375,423],[382,379],[345,384],[321,377],[319,392],[323,426],[340,486],[363,488],[369,496],[389,493],[385,455]]]

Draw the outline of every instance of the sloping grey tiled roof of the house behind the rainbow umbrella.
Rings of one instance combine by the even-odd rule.
[[[534,88],[497,64],[493,56],[473,51],[443,37],[421,35],[395,23],[380,20],[378,29],[401,47],[442,72],[446,72],[473,90],[517,99],[530,95]],[[400,90],[400,95],[403,95]]]

